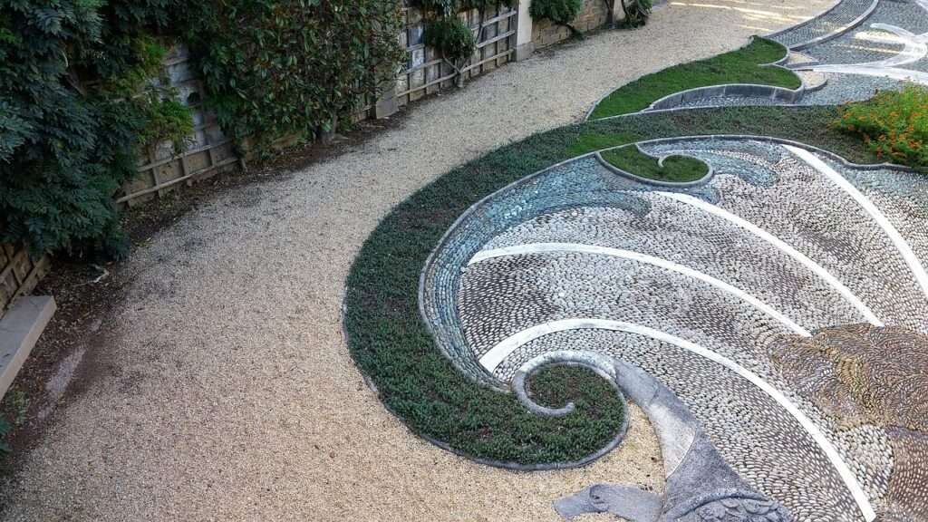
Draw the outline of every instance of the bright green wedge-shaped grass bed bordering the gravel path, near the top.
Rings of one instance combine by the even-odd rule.
[[[758,84],[798,88],[802,81],[795,73],[765,66],[782,59],[786,53],[786,47],[777,42],[754,38],[751,44],[741,49],[642,76],[600,101],[590,119],[638,112],[660,98],[696,87]]]

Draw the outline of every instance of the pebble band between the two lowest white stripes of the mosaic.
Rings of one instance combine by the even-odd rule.
[[[461,281],[459,310],[480,356],[548,321],[625,320],[714,346],[757,370],[763,347],[792,333],[707,283],[597,254],[516,255],[473,265]]]

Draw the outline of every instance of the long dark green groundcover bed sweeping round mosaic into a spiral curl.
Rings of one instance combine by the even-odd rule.
[[[851,161],[872,162],[857,137],[829,129],[836,117],[834,107],[640,114],[555,129],[458,167],[396,206],[355,259],[344,318],[354,360],[383,403],[413,432],[452,450],[523,464],[586,457],[620,427],[621,402],[610,385],[577,369],[548,374],[533,390],[545,394],[549,388],[548,397],[569,393],[577,408],[560,419],[538,417],[510,394],[470,382],[434,346],[419,317],[419,272],[445,231],[472,204],[512,181],[579,154],[644,139],[724,133],[788,137]]]

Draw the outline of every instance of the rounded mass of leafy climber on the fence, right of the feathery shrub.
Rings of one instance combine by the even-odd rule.
[[[393,80],[400,13],[382,0],[211,0],[189,36],[226,132],[267,151],[327,137]]]

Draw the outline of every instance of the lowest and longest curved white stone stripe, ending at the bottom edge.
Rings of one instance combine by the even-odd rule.
[[[514,351],[519,346],[522,346],[539,337],[548,335],[549,333],[590,329],[634,333],[638,335],[644,335],[646,337],[651,337],[651,339],[656,339],[670,345],[679,346],[680,348],[688,350],[705,359],[712,360],[713,362],[728,368],[728,370],[731,370],[732,372],[740,375],[742,378],[750,381],[752,384],[766,393],[770,398],[776,400],[784,410],[793,415],[793,418],[800,425],[802,425],[803,429],[806,430],[806,433],[808,433],[809,436],[815,440],[816,444],[818,444],[818,447],[825,453],[825,456],[828,458],[828,460],[831,461],[831,465],[833,465],[835,470],[838,472],[838,476],[841,476],[841,479],[844,481],[844,485],[850,491],[851,496],[854,497],[854,500],[857,502],[857,506],[860,508],[860,512],[864,515],[866,521],[872,522],[876,518],[876,512],[873,511],[873,506],[870,504],[870,499],[867,497],[867,494],[864,493],[864,490],[860,487],[860,483],[857,482],[857,476],[855,476],[847,464],[844,463],[841,455],[837,450],[835,450],[834,446],[831,445],[831,441],[828,439],[828,437],[825,437],[821,430],[818,429],[818,426],[808,417],[806,417],[806,414],[800,411],[799,408],[797,408],[789,398],[786,398],[786,396],[784,396],[780,390],[773,387],[772,385],[769,385],[767,381],[762,379],[754,372],[744,368],[737,362],[728,359],[718,353],[715,353],[708,348],[691,343],[686,339],[681,339],[676,335],[654,330],[652,328],[648,328],[647,326],[620,320],[558,320],[534,326],[527,330],[523,330],[520,333],[512,335],[511,337],[503,340],[503,342],[494,346],[493,349],[491,349],[480,359],[480,362],[487,370],[493,372],[496,369],[496,366],[499,364],[499,361],[502,361],[507,356],[509,356],[512,351]]]

